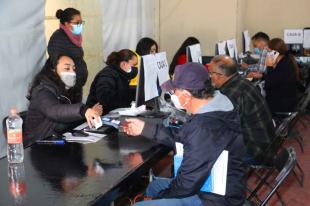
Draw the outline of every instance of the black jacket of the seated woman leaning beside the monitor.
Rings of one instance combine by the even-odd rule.
[[[134,100],[130,92],[129,82],[136,74],[137,69],[133,69],[128,74],[119,67],[105,67],[96,75],[91,84],[86,104],[92,107],[100,102],[104,114],[117,108],[129,107]]]

